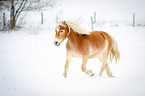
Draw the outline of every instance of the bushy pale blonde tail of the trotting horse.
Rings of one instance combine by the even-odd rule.
[[[120,60],[120,52],[118,50],[118,44],[114,38],[112,38],[112,41],[113,41],[113,46],[110,52],[110,61],[112,62],[113,58],[115,57],[115,62],[117,63],[117,61]]]

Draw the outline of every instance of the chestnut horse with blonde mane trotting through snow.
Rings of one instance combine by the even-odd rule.
[[[103,63],[99,73],[102,76],[103,71],[106,69],[107,75],[113,77],[112,72],[108,66],[108,58],[110,61],[115,58],[119,61],[120,53],[118,45],[114,38],[103,31],[88,32],[74,21],[60,21],[57,22],[55,29],[55,45],[59,46],[66,38],[66,63],[64,69],[64,77],[67,77],[69,63],[72,57],[82,59],[82,71],[89,76],[93,76],[92,70],[86,69],[86,64],[89,58],[98,57]]]

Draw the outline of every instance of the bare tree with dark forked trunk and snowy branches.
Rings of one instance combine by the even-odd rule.
[[[5,8],[10,11],[10,29],[16,27],[17,20],[23,11],[40,10],[44,7],[53,7],[56,0],[2,0],[0,1],[0,11]],[[4,3],[6,2],[6,3]]]

